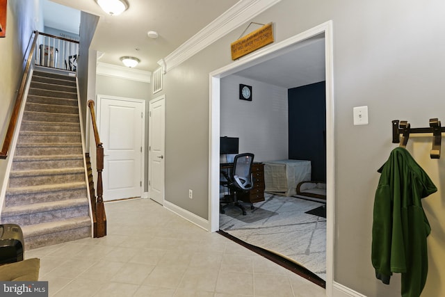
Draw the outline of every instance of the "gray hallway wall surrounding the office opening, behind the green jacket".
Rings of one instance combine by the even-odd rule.
[[[371,266],[373,196],[394,144],[391,120],[428,127],[444,120],[445,29],[442,1],[282,0],[265,13],[170,70],[166,94],[165,199],[207,218],[209,72],[232,63],[229,44],[249,22],[274,22],[279,42],[332,19],[334,26],[335,234],[334,280],[366,296],[400,296],[375,280]],[[216,58],[217,57],[217,58]],[[353,107],[369,106],[369,125],[353,126]],[[429,275],[423,296],[445,296],[441,186],[444,157],[429,159],[431,137],[412,137],[408,149],[439,192],[423,205],[432,225]],[[193,189],[193,200],[188,199]],[[441,244],[442,243],[442,244]]]

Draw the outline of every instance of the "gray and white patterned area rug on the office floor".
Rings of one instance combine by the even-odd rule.
[[[246,207],[245,216],[237,207],[227,207],[225,214],[220,214],[220,230],[291,259],[325,280],[326,219],[306,213],[322,205],[268,195],[264,202],[254,204],[255,209]]]

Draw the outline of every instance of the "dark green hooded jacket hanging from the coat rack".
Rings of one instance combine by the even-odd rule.
[[[402,296],[419,297],[428,273],[426,237],[431,231],[421,199],[437,188],[403,147],[396,147],[378,172],[371,251],[375,276],[389,284],[392,273],[402,273]]]

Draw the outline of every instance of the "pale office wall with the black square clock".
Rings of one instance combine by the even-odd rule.
[[[239,137],[254,161],[288,159],[287,89],[237,75],[220,83],[220,136]],[[251,102],[239,99],[240,83],[252,86]]]

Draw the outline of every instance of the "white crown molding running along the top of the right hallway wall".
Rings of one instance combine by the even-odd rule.
[[[230,31],[238,28],[238,26],[245,24],[246,20],[252,19],[252,17],[259,15],[280,1],[281,0],[239,1],[175,49],[175,51],[172,51],[171,54],[159,60],[158,64],[163,67],[164,73],[171,70],[224,35],[227,35]]]

